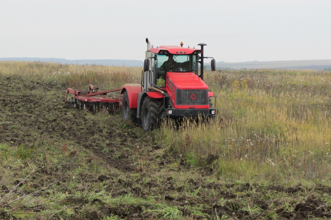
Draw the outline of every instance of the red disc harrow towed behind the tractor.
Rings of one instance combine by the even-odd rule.
[[[116,88],[106,91],[98,91],[93,83],[88,86],[87,94],[82,94],[76,89],[67,89],[65,103],[73,104],[73,107],[78,110],[91,111],[93,113],[105,111],[109,114],[114,114],[121,107],[122,95],[109,93],[120,91],[122,88]],[[68,98],[68,95],[73,96]]]

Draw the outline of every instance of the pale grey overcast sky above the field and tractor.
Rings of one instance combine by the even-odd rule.
[[[216,62],[331,59],[330,0],[0,3],[0,57],[144,60],[148,37]]]

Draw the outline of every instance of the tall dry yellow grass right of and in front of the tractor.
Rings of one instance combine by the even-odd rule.
[[[211,166],[219,178],[331,177],[330,72],[247,70],[206,76],[217,96],[215,123],[163,127],[156,137],[162,136],[164,144],[190,160],[193,152],[200,165],[216,155]]]

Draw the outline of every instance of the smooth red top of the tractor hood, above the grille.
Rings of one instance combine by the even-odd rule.
[[[167,72],[167,77],[170,85],[177,89],[208,89],[207,84],[192,72]]]

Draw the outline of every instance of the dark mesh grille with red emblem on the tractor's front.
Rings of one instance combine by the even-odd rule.
[[[208,90],[176,89],[177,105],[209,105]]]

